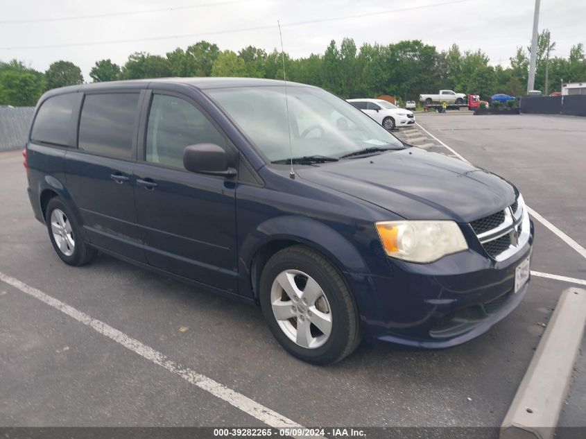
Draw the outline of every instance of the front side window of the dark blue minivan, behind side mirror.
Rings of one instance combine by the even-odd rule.
[[[182,98],[155,94],[148,113],[146,161],[183,169],[183,150],[227,142],[205,115]]]

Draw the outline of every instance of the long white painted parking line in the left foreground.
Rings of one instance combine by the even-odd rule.
[[[74,307],[71,307],[64,302],[53,298],[51,295],[43,293],[42,291],[19,281],[19,279],[15,279],[14,277],[10,277],[0,272],[0,280],[2,282],[6,282],[6,284],[10,286],[13,286],[15,289],[18,289],[19,291],[22,291],[23,293],[26,293],[31,297],[44,302],[45,304],[48,304],[50,307],[58,309],[58,311],[67,314],[67,316],[78,320],[78,322],[81,322],[87,327],[94,329],[94,331],[102,334],[103,336],[106,336],[107,338],[110,338],[110,340],[115,341],[119,345],[126,347],[126,349],[131,350],[143,358],[162,366],[175,375],[179,375],[182,377],[182,379],[189,382],[189,384],[193,384],[193,386],[197,386],[198,388],[211,393],[215,397],[223,399],[223,401],[227,402],[228,404],[239,408],[244,413],[257,418],[257,420],[264,422],[264,424],[267,424],[270,427],[298,429],[304,428],[300,424],[297,424],[296,422],[285,418],[283,415],[279,415],[279,413],[270,410],[270,408],[267,408],[255,402],[254,400],[245,397],[241,393],[238,393],[231,388],[227,388],[223,384],[218,383],[218,381],[206,377],[205,375],[202,375],[190,368],[182,367],[178,363],[175,363],[175,361],[168,359],[161,352],[154,350],[152,347],[144,345],[135,338],[120,332],[118,329],[107,325],[101,320],[97,320],[91,316],[88,316],[86,313],[78,311],[78,309],[75,309]]]

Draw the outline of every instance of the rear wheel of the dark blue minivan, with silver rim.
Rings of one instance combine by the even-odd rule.
[[[96,256],[96,249],[83,241],[80,226],[74,214],[63,201],[51,198],[46,207],[45,223],[49,239],[61,260],[71,266],[88,264]]]

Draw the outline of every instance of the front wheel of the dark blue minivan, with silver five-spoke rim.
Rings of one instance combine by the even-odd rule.
[[[270,332],[289,354],[325,365],[340,361],[360,344],[359,313],[352,294],[338,270],[318,252],[293,246],[275,253],[264,266],[259,287]],[[277,320],[275,312],[282,318]],[[306,329],[301,333],[300,325]]]

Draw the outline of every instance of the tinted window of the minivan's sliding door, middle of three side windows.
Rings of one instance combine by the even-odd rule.
[[[79,122],[79,149],[129,159],[138,114],[138,93],[88,94]]]

